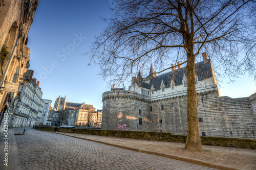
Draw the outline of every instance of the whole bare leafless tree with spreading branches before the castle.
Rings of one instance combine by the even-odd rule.
[[[195,61],[207,52],[216,70],[230,80],[255,76],[255,9],[253,1],[123,0],[109,26],[96,37],[91,61],[109,83],[131,80],[138,70],[155,65],[157,74],[186,63],[186,150],[203,151],[198,125]],[[179,65],[181,65],[179,64]],[[220,69],[222,68],[222,69]],[[216,72],[220,76],[220,72]],[[143,74],[143,72],[142,72]],[[144,74],[145,75],[145,74]]]

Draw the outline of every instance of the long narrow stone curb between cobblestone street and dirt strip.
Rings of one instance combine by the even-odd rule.
[[[131,151],[135,151],[135,152],[157,155],[157,156],[163,156],[165,158],[176,159],[176,160],[180,160],[180,161],[184,161],[184,162],[189,162],[189,163],[202,165],[202,166],[207,166],[207,167],[212,167],[212,168],[221,169],[221,170],[242,170],[242,169],[234,168],[234,167],[231,167],[231,166],[221,165],[221,164],[218,164],[218,163],[211,163],[211,162],[207,162],[207,161],[203,161],[203,160],[199,160],[199,159],[187,158],[187,157],[172,155],[172,154],[165,154],[165,153],[161,153],[161,152],[140,150],[140,149],[131,148],[131,147],[124,147],[124,146],[118,145],[118,144],[107,143],[107,142],[102,142],[102,141],[98,141],[98,140],[92,140],[92,139],[87,139],[87,138],[83,138],[83,137],[77,137],[77,136],[73,136],[73,135],[62,134],[62,133],[59,133],[59,132],[52,132],[52,133],[57,133],[57,134],[60,134],[60,135],[65,135],[65,136],[70,136],[70,137],[74,137],[74,138],[78,138],[78,139],[83,139],[83,140],[93,141],[93,142],[102,143],[102,144],[106,144],[106,145],[111,145],[112,147],[118,147],[118,148],[131,150]]]

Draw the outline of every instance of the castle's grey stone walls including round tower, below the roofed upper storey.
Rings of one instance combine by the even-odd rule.
[[[201,136],[255,138],[255,99],[219,97],[218,90],[198,93]],[[254,95],[253,95],[254,96]],[[126,124],[133,131],[187,133],[187,96],[150,99],[133,91],[103,93],[102,129]],[[142,114],[139,114],[139,109]],[[254,109],[254,111],[253,111]],[[138,126],[138,119],[142,125]]]

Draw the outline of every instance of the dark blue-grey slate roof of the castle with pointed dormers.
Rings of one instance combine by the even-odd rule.
[[[206,63],[203,63],[203,61],[196,63],[195,70],[199,81],[210,78],[213,75],[210,60],[208,60]],[[137,80],[136,83],[139,87],[146,89],[151,89],[153,85],[155,91],[161,89],[162,81],[164,82],[166,88],[170,87],[170,83],[172,80],[174,81],[176,86],[183,84],[182,80],[184,75],[187,77],[186,67],[182,67],[180,70],[177,69],[176,71],[169,71],[165,74],[152,77],[150,84],[140,80]]]

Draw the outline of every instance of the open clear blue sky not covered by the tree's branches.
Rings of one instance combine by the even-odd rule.
[[[28,47],[31,50],[30,68],[40,81],[42,99],[52,100],[67,95],[68,102],[93,104],[102,109],[102,93],[110,90],[99,79],[99,68],[88,66],[89,58],[82,55],[107,26],[101,17],[111,17],[112,1],[50,1],[41,0],[29,31]],[[247,97],[254,93],[256,84],[248,76],[237,83],[220,87],[221,96]],[[130,84],[125,84],[129,86]]]

